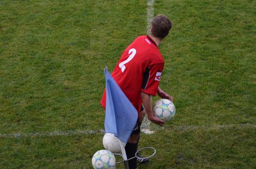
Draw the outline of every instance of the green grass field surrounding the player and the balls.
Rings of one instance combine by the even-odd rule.
[[[104,128],[103,68],[112,71],[127,45],[146,34],[147,6],[0,1],[1,169],[91,168],[104,149],[102,133],[49,133]],[[255,0],[154,2],[154,14],[173,22],[160,45],[160,87],[175,98],[176,115],[142,133],[140,147],[157,154],[138,168],[256,168],[255,9]]]

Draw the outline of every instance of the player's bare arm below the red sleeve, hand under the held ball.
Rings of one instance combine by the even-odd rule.
[[[142,99],[142,102],[143,102],[144,109],[145,109],[145,111],[148,115],[148,120],[152,121],[154,124],[163,126],[164,121],[153,115],[153,111],[152,111],[152,108],[151,108],[150,95],[147,94],[147,93],[144,93],[144,92],[140,92],[140,95],[141,95],[141,99]]]

